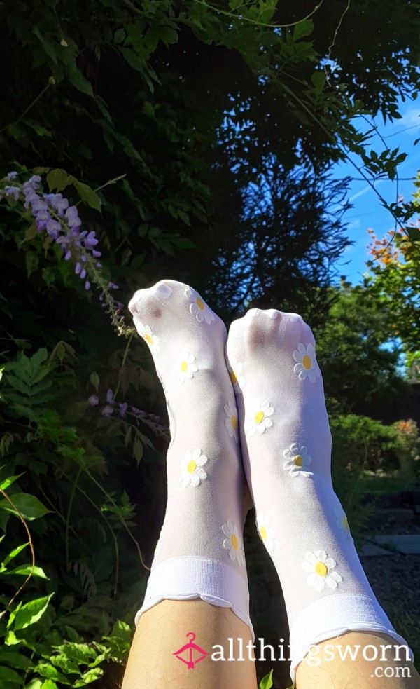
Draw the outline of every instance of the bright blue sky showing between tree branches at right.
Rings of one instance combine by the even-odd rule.
[[[371,119],[371,122],[377,126],[379,134],[384,137],[386,147],[391,150],[398,147],[400,153],[407,154],[405,161],[398,167],[398,177],[400,177],[398,186],[396,182],[387,180],[379,180],[376,183],[378,191],[388,203],[396,200],[397,190],[405,200],[411,200],[414,181],[412,179],[407,181],[405,178],[415,177],[416,172],[420,170],[420,142],[414,146],[414,141],[420,138],[420,104],[416,101],[401,103],[400,113],[402,118],[393,123],[384,124],[379,116],[374,121]],[[360,131],[366,131],[369,128],[363,120],[355,121],[355,125]],[[384,148],[379,135],[374,135],[372,149],[380,154]],[[359,167],[363,165],[356,156],[353,156],[353,161]],[[345,250],[335,266],[340,275],[346,275],[346,278],[356,285],[362,281],[363,273],[367,271],[365,265],[368,259],[366,247],[369,243],[367,228],[374,229],[380,238],[393,228],[394,221],[370,186],[363,179],[355,179],[360,178],[361,175],[358,174],[356,168],[353,168],[353,165],[348,162],[337,163],[332,168],[332,174],[337,178],[346,175],[352,178],[349,186],[349,200],[353,208],[344,214],[344,220],[349,223],[347,234],[354,241],[354,245]]]

